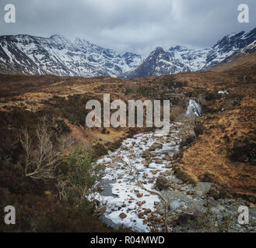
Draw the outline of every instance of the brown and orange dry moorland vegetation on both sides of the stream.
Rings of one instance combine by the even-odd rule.
[[[16,229],[6,226],[0,229],[111,231],[93,218],[92,209],[81,214],[68,202],[59,204],[54,179],[45,184],[26,177],[37,172],[40,153],[36,147],[40,147],[40,142],[36,140],[42,135],[38,131],[42,116],[47,116],[47,129],[51,130],[51,139],[44,148],[47,151],[51,143],[58,146],[63,157],[60,165],[63,171],[67,170],[66,156],[78,143],[92,149],[91,155],[96,158],[107,150],[117,149],[124,138],[146,130],[86,127],[85,103],[89,99],[102,102],[104,93],[110,93],[111,101],[119,98],[124,102],[128,99],[170,99],[174,105],[172,120],[182,120],[189,98],[199,99],[203,115],[188,123],[190,129],[191,126],[195,129],[196,136],[195,140],[183,143],[177,171],[192,181],[199,181],[202,174],[213,174],[216,183],[237,193],[256,196],[255,156],[250,153],[255,149],[256,140],[255,85],[255,67],[243,71],[205,71],[132,80],[0,75],[0,203],[15,205],[19,214]],[[220,90],[230,95],[218,95]],[[28,138],[30,133],[32,141],[20,140],[23,126],[27,127],[27,131],[23,129],[23,138]],[[26,148],[30,147],[28,143],[33,146],[33,156],[28,157],[27,168],[31,167],[24,174],[20,168],[24,165],[26,168],[22,161],[30,154]],[[41,164],[44,165],[47,163]]]

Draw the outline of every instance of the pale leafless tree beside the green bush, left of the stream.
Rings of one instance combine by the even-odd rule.
[[[37,146],[33,148],[27,128],[21,129],[20,143],[26,152],[23,171],[26,177],[47,181],[54,178],[54,171],[61,160],[59,151],[51,142],[53,132],[43,122],[37,127]]]

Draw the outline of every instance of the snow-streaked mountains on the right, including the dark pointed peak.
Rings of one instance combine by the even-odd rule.
[[[162,47],[156,47],[138,68],[122,74],[121,77],[147,77],[200,71],[205,67],[219,64],[226,57],[247,47],[254,40],[256,40],[256,28],[247,33],[231,33],[211,48],[188,49],[177,46],[170,47],[169,50],[165,51]]]

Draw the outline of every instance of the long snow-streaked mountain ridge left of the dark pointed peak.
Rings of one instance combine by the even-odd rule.
[[[0,36],[0,73],[117,77],[141,63],[135,53],[121,56],[79,38]]]

